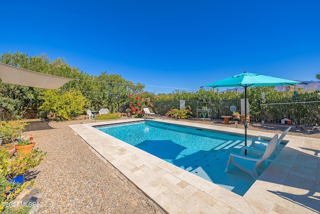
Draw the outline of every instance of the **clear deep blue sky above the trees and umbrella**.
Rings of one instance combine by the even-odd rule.
[[[318,0],[3,1],[1,8],[0,53],[45,53],[91,75],[198,90],[244,71],[299,81],[320,74]]]

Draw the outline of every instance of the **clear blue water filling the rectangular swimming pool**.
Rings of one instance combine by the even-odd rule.
[[[95,128],[237,194],[243,195],[254,182],[236,167],[223,172],[230,151],[244,145],[242,136],[156,121]]]

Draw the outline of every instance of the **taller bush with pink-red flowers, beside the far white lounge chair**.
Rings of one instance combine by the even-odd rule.
[[[126,110],[126,113],[130,113],[132,117],[141,117],[143,114],[142,106],[148,107],[150,112],[152,112],[154,94],[147,92],[135,93],[133,88],[131,90],[132,93],[128,95],[129,109]]]

